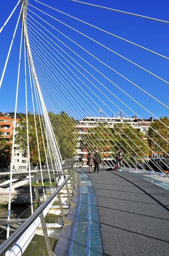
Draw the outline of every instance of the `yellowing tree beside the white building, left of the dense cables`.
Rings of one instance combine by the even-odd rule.
[[[37,125],[37,136],[36,136],[36,128],[34,122],[34,114],[28,112],[28,137],[29,137],[29,152],[30,152],[30,163],[31,165],[39,165],[39,155],[38,155],[38,146],[37,146],[37,137],[39,142],[39,152],[41,163],[45,163],[45,150],[42,140],[42,133],[40,129],[39,116],[35,114],[36,125]],[[42,125],[42,124],[41,124]],[[42,132],[45,134],[43,125]],[[12,137],[11,137],[12,140]],[[44,136],[45,141],[45,149],[46,149],[46,138]],[[15,135],[15,144],[18,145],[20,151],[23,152],[26,156],[28,156],[28,146],[27,146],[27,128],[26,128],[26,118],[25,116],[20,116],[20,122],[16,127],[16,135]]]

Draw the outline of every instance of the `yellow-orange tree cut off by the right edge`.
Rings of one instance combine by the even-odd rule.
[[[160,118],[160,120],[167,126],[169,126],[169,118],[167,116],[164,116]],[[163,151],[166,151],[167,155],[169,156],[169,143],[167,143],[164,139],[160,137],[163,136],[167,141],[169,141],[169,128],[167,128],[165,125],[163,125],[161,122],[156,120],[155,122],[152,122],[150,125],[151,128],[148,130],[148,136],[155,141],[161,148],[163,148]],[[152,128],[157,131],[160,135],[158,135],[155,131],[152,130]],[[158,147],[152,140],[148,138],[149,147],[152,149],[152,151],[155,152],[161,152],[161,148]],[[162,152],[161,152],[162,153]],[[168,158],[168,156],[164,153],[164,155]]]

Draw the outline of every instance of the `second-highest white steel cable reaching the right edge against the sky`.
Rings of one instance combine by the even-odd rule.
[[[39,1],[37,1],[37,0],[35,0],[35,1],[38,2],[38,3],[41,3],[41,2],[39,2]],[[90,24],[90,23],[87,23],[87,22],[85,22],[84,20],[80,20],[80,19],[78,19],[78,18],[76,18],[76,17],[74,17],[74,16],[72,16],[72,15],[69,15],[69,14],[67,14],[67,13],[65,13],[65,12],[61,12],[61,11],[59,11],[58,9],[55,9],[55,8],[53,8],[53,7],[51,7],[51,6],[48,6],[48,5],[45,4],[45,3],[41,3],[41,4],[44,5],[44,6],[47,6],[47,7],[51,8],[51,9],[53,9],[53,10],[55,10],[56,12],[60,12],[60,13],[62,13],[62,14],[64,14],[64,15],[68,16],[68,17],[71,17],[71,18],[73,18],[73,19],[75,19],[75,20],[78,20],[78,21],[80,21],[80,22],[82,22],[82,23],[85,23],[85,24],[87,24],[87,25],[89,25],[89,26],[91,26],[91,27],[93,27],[93,28],[95,28],[95,29],[98,29],[98,30],[100,30],[100,31],[102,31],[102,32],[105,32],[105,33],[109,34],[109,35],[113,35],[114,37],[119,38],[119,39],[121,39],[121,40],[123,40],[123,41],[126,41],[127,43],[130,43],[130,44],[132,44],[132,45],[135,45],[135,46],[137,46],[137,47],[140,47],[141,49],[144,49],[144,50],[146,50],[146,51],[148,51],[148,52],[154,53],[155,55],[158,55],[158,56],[160,56],[160,57],[163,57],[163,58],[169,60],[168,57],[163,56],[163,55],[159,54],[158,52],[154,52],[154,51],[152,51],[152,50],[150,50],[150,49],[147,49],[147,48],[145,48],[145,47],[142,47],[142,46],[139,45],[139,44],[135,44],[135,43],[133,43],[133,42],[127,40],[127,39],[121,38],[121,37],[118,36],[118,35],[114,35],[114,34],[108,32],[108,31],[106,31],[106,30],[104,30],[104,29],[101,29],[101,28],[99,28],[99,27],[97,27],[97,26],[94,26],[94,25],[92,25],[92,24]]]

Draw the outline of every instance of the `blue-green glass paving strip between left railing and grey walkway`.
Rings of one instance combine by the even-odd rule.
[[[96,195],[89,177],[81,170],[77,172],[81,180],[79,204],[70,246],[68,244],[65,255],[103,256]]]

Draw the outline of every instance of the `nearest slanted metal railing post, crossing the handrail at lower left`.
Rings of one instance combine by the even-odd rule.
[[[37,198],[37,207],[39,207],[41,205],[41,203],[40,203],[38,188],[35,188],[35,196]],[[51,244],[50,244],[50,241],[49,241],[48,231],[47,231],[47,228],[46,228],[46,223],[45,223],[45,218],[44,218],[43,212],[40,213],[40,220],[41,220],[41,224],[42,224],[42,230],[43,230],[43,235],[44,235],[44,238],[45,238],[46,247],[47,247],[47,250],[48,250],[48,256],[56,256],[54,254],[54,252],[52,251],[52,249],[51,249]]]

